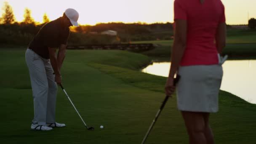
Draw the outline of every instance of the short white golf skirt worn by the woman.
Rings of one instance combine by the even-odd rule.
[[[195,65],[179,67],[181,76],[177,83],[177,106],[181,111],[217,112],[222,66]]]

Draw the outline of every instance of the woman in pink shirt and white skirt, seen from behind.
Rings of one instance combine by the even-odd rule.
[[[189,144],[214,144],[209,114],[218,111],[222,67],[218,53],[226,43],[224,5],[220,0],[175,0],[175,35],[168,96],[177,84],[177,105],[189,134]],[[215,41],[215,42],[214,42]]]

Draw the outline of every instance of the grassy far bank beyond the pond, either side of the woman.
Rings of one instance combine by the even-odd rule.
[[[165,58],[168,61],[173,40],[153,40],[133,43],[154,43],[158,46],[143,54],[147,56]],[[229,55],[229,59],[256,59],[256,30],[229,29],[227,31],[227,45],[223,51]],[[166,59],[167,58],[167,59]]]

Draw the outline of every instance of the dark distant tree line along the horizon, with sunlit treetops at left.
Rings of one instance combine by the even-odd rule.
[[[17,22],[13,9],[8,2],[4,2],[3,13],[0,17],[0,44],[28,45],[43,25],[49,22],[46,13],[43,15],[43,23],[36,22],[31,16],[31,10],[25,8],[24,19]],[[248,27],[255,29],[256,19],[248,21]],[[106,30],[114,30],[117,36],[101,35]],[[94,26],[80,25],[72,27],[69,36],[69,44],[111,44],[130,43],[144,40],[170,40],[173,38],[173,24],[171,23],[100,23]]]

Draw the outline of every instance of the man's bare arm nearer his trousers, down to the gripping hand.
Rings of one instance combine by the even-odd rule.
[[[53,67],[53,71],[55,74],[55,81],[57,82],[57,84],[61,84],[61,73],[58,67],[57,58],[55,56],[56,50],[55,48],[48,48],[48,51],[49,51],[51,66]]]

